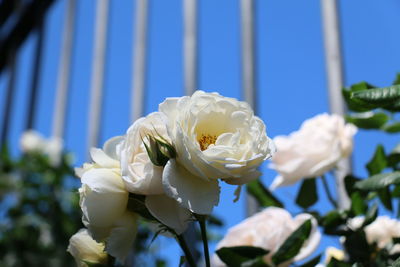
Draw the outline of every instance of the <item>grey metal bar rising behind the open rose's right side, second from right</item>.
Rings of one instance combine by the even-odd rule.
[[[242,88],[244,100],[257,113],[256,63],[254,42],[254,2],[241,0],[242,24]],[[251,216],[258,211],[258,203],[251,195],[246,195],[246,215]]]

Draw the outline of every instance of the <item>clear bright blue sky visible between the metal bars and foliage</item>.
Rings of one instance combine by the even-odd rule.
[[[133,1],[134,2],[134,1]],[[150,1],[149,58],[145,112],[157,110],[166,97],[181,96],[183,90],[182,2]],[[289,134],[302,121],[328,112],[325,62],[317,0],[258,0],[256,2],[257,67],[259,115],[270,137]],[[400,2],[396,0],[339,1],[343,38],[345,83],[366,80],[377,86],[389,85],[400,71]],[[85,160],[87,111],[91,75],[92,44],[96,1],[78,1],[77,32],[73,56],[70,103],[66,127],[66,149],[73,152],[76,164]],[[66,0],[57,1],[46,24],[44,64],[36,129],[49,136]],[[132,1],[111,1],[107,66],[101,143],[124,134],[129,126],[133,12]],[[238,0],[199,1],[199,89],[217,91],[241,98],[240,17]],[[18,82],[10,144],[18,153],[18,137],[26,116],[27,90],[35,40],[24,44],[18,58]],[[0,98],[4,99],[6,77],[0,77]],[[355,138],[354,172],[366,175],[364,164],[375,144],[390,150],[397,136],[360,131]],[[275,173],[262,168],[265,184]],[[278,197],[292,212],[298,185],[279,189]],[[319,188],[321,189],[321,188]],[[243,198],[232,203],[231,186],[223,186],[216,214],[228,227],[244,218]],[[321,191],[322,192],[322,191]],[[321,193],[322,195],[322,193]],[[317,206],[330,209],[326,199]],[[163,241],[164,242],[164,241]],[[330,239],[321,243],[335,244]],[[170,245],[165,255],[175,251]],[[172,259],[176,266],[178,257]]]

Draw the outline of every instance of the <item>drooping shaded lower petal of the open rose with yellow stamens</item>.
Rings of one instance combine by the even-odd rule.
[[[197,214],[210,214],[219,202],[217,180],[205,181],[194,176],[174,159],[164,167],[163,187],[168,196]]]

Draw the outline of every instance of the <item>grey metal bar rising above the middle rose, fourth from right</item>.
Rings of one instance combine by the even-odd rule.
[[[143,116],[146,82],[147,0],[136,0],[131,122]]]

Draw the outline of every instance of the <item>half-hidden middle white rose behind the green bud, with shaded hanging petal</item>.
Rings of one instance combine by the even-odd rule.
[[[162,186],[163,168],[155,166],[143,144],[146,135],[160,135],[169,141],[163,114],[154,112],[140,118],[128,129],[124,140],[118,145],[122,178],[129,192],[146,195],[149,212],[160,222],[178,234],[183,233],[191,214],[165,195]]]

